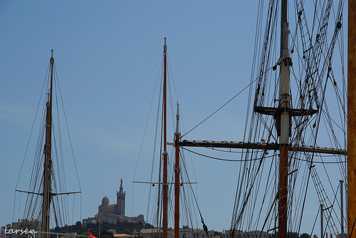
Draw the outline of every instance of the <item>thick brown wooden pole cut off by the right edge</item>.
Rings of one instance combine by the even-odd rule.
[[[356,237],[356,0],[349,0],[347,29],[347,234]]]

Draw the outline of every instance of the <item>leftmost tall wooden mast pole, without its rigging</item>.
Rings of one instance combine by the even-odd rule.
[[[51,208],[51,172],[52,172],[52,88],[53,88],[53,49],[51,51],[51,82],[48,92],[48,101],[46,103],[46,143],[44,145],[44,163],[43,163],[43,203],[42,203],[42,224],[41,232],[49,232],[50,208]],[[43,233],[42,238],[49,237],[48,233]]]

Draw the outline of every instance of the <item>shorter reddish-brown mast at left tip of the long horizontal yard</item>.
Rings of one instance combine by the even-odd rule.
[[[174,133],[175,140],[178,141],[180,138],[179,133],[179,104],[177,103],[177,126],[176,132]],[[174,238],[179,238],[179,146],[175,146],[175,165],[174,165]]]

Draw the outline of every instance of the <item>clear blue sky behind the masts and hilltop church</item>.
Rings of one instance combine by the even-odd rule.
[[[257,6],[258,1],[0,1],[0,224],[13,221],[14,190],[51,48],[82,190],[81,214],[73,222],[93,217],[105,195],[115,203],[121,178],[125,213],[146,219],[147,186],[132,181],[150,177],[154,124],[148,125],[138,165],[137,159],[164,36],[184,133],[248,85]],[[246,100],[246,94],[236,98],[189,139],[242,140]],[[169,133],[172,138],[173,128]],[[192,163],[206,224],[229,229],[237,165],[202,157],[192,157]],[[31,162],[25,167],[31,170]]]

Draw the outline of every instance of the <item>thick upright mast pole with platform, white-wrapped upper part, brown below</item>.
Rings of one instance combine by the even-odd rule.
[[[287,21],[287,0],[281,4],[281,58],[279,65],[281,71],[279,75],[279,115],[281,135],[280,143],[280,163],[279,163],[279,202],[278,202],[278,238],[287,237],[287,213],[288,213],[288,146],[290,137],[290,58],[288,51],[288,21]]]

